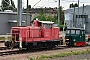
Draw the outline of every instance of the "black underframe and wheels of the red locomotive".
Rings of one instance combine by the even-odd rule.
[[[52,41],[39,41],[39,42],[22,42],[22,48],[26,49],[40,49],[40,48],[55,48],[58,45],[61,45],[61,40],[52,40]],[[5,42],[7,47],[11,47],[11,41]],[[14,42],[13,48],[19,48],[19,42]]]

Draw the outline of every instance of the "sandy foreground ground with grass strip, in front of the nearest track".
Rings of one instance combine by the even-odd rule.
[[[87,51],[88,53],[85,53]],[[74,55],[72,54],[72,52]],[[59,54],[61,54],[61,56]],[[78,54],[81,54],[81,55],[78,55]],[[65,57],[66,55],[69,56],[70,58]],[[74,59],[72,57],[74,57]],[[46,50],[46,51],[44,50],[44,51],[38,51],[38,52],[26,52],[22,54],[20,53],[20,54],[0,56],[0,60],[44,60],[44,59],[45,60],[90,59],[90,46],[78,47],[78,48]]]

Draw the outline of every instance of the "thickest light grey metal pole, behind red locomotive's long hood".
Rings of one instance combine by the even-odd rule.
[[[22,25],[22,0],[18,0],[18,25]]]

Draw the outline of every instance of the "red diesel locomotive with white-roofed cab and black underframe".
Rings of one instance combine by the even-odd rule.
[[[5,46],[11,48],[52,48],[60,44],[59,27],[54,22],[34,20],[32,26],[12,27],[11,40]]]

